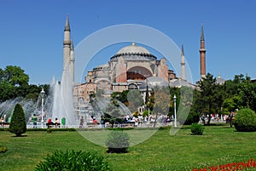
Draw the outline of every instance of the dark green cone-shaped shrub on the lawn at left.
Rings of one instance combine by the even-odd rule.
[[[26,133],[26,118],[20,104],[15,105],[15,111],[9,124],[9,132],[16,134],[16,136]]]

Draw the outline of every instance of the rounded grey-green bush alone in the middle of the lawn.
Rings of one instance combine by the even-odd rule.
[[[125,153],[130,145],[129,135],[121,130],[112,131],[108,134],[106,145],[109,153]]]

